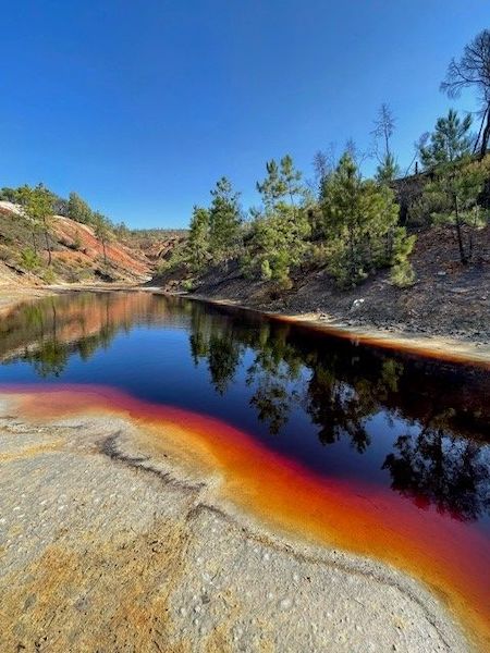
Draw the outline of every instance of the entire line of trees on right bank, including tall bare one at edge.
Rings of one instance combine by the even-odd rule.
[[[461,118],[450,109],[439,118],[432,133],[418,144],[422,173],[416,163],[414,176],[397,180],[391,144],[395,119],[383,103],[372,131],[371,156],[378,161],[373,178],[363,178],[352,141],[339,160],[331,152],[317,152],[316,190],[303,182],[291,156],[268,161],[266,177],[257,183],[261,206],[248,214],[238,206],[240,194],[222,177],[211,190],[210,207],[194,208],[187,244],[172,255],[166,269],[184,266],[193,275],[204,274],[234,260],[243,276],[270,281],[282,289],[293,287],[294,278],[306,269],[324,268],[340,287],[389,269],[393,284],[408,286],[415,282],[409,257],[416,236],[401,221],[399,202],[403,182],[413,178],[420,182],[414,184],[404,215],[427,227],[453,226],[461,262],[467,264],[478,231],[489,221],[490,157],[485,158],[490,135],[489,63],[490,32],[485,30],[458,64],[450,64],[442,90],[455,96],[463,88],[476,88],[483,98],[482,122],[475,136],[471,115]]]

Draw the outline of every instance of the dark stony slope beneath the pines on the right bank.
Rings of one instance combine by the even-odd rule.
[[[273,282],[245,279],[236,262],[187,275],[187,282],[181,266],[150,283],[170,292],[191,287],[195,295],[261,310],[311,313],[347,326],[490,342],[490,226],[479,232],[474,263],[466,267],[451,227],[420,229],[416,235],[411,262],[417,281],[405,288],[381,270],[355,288],[339,289],[326,269],[304,266],[292,274],[293,287],[284,291]]]

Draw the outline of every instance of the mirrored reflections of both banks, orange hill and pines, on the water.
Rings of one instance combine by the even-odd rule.
[[[27,364],[38,379],[76,382],[73,357],[89,374],[96,354],[109,352],[119,336],[126,350],[143,347],[142,329],[157,330],[161,352],[142,348],[137,387],[143,394],[159,380],[159,401],[171,402],[170,381],[162,379],[169,369],[177,374],[192,362],[195,371],[186,372],[189,391],[182,399],[188,407],[201,409],[198,390],[194,395],[192,389],[205,374],[216,397],[209,411],[226,419],[233,414],[254,431],[252,411],[274,436],[270,446],[282,446],[317,471],[342,476],[357,466],[356,473],[367,476],[372,468],[377,482],[420,508],[432,506],[461,520],[490,514],[490,374],[476,367],[356,346],[184,299],[84,293],[26,304],[0,322],[0,380],[28,380],[21,371],[9,374]],[[168,362],[172,329],[188,338],[187,360]],[[163,360],[171,367],[163,369]],[[111,383],[124,383],[118,369],[113,378],[106,369]],[[311,438],[320,445],[315,451]],[[331,452],[321,458],[322,467],[319,448]]]

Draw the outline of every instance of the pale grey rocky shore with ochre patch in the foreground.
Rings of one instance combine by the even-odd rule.
[[[2,653],[471,650],[417,581],[272,532],[185,459],[118,415],[33,422],[1,395]]]

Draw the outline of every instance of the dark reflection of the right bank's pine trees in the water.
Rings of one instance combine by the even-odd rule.
[[[217,346],[224,342],[223,324],[228,326],[226,356],[212,352],[216,323],[220,324]],[[250,325],[226,313],[209,312],[200,304],[193,305],[189,338],[193,355],[199,350],[198,357],[208,359],[211,382],[221,394],[223,379],[230,379],[240,358],[252,350],[253,362],[246,367],[249,405],[271,434],[281,433],[291,411],[301,406],[318,428],[322,445],[347,439],[363,454],[372,441],[371,418],[383,414],[391,426],[404,420],[411,428],[395,439],[382,464],[391,488],[419,507],[433,505],[457,519],[474,520],[490,513],[490,449],[481,442],[489,424],[486,372],[468,369],[473,394],[462,396],[465,371],[455,366],[439,366],[441,378],[433,364],[404,361],[345,342],[321,346],[320,338],[311,343],[289,325],[257,321]],[[222,367],[217,365],[221,360]],[[460,377],[455,387],[454,374]],[[444,377],[450,393],[441,391]],[[456,407],[448,408],[448,401]]]

